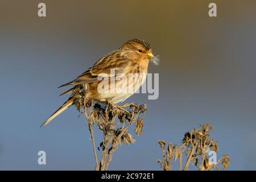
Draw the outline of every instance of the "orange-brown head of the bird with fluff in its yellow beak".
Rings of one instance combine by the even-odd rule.
[[[127,41],[120,48],[122,51],[130,55],[132,59],[146,59],[155,65],[159,64],[159,56],[154,56],[150,44],[142,39],[133,39]]]

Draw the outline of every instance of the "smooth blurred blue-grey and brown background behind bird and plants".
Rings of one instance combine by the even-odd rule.
[[[216,18],[208,16],[210,2]],[[57,86],[133,38],[160,55],[148,70],[159,73],[159,98],[126,101],[147,104],[143,133],[115,151],[109,169],[160,170],[157,141],[181,144],[203,123],[213,126],[217,158],[230,155],[227,169],[256,169],[255,17],[254,0],[0,0],[0,169],[92,170],[90,134],[75,107],[40,125],[67,99]],[[37,163],[40,150],[46,165]]]

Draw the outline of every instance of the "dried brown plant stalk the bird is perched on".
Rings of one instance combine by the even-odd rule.
[[[135,103],[119,106],[110,102],[94,102],[81,97],[76,102],[76,107],[85,115],[93,144],[94,158],[96,161],[95,170],[105,171],[118,145],[135,142],[134,137],[128,133],[129,127],[135,122],[135,133],[139,136],[142,133],[143,120],[139,114],[145,113],[146,105]],[[129,109],[125,109],[129,107]],[[93,125],[97,125],[103,133],[104,138],[99,147],[96,148],[94,140]],[[98,160],[97,150],[101,151],[101,159]]]

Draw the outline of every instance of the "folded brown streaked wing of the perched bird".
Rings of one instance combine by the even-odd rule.
[[[125,71],[129,63],[129,59],[121,56],[119,50],[110,52],[108,55],[103,56],[97,61],[97,63],[93,65],[93,67],[87,69],[75,80],[61,85],[59,88],[68,85],[80,85],[97,81],[100,74],[106,74],[108,77],[117,76],[119,73],[123,73]],[[111,74],[110,69],[114,69],[114,75]]]

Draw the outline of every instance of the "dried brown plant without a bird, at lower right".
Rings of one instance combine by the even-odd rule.
[[[160,167],[164,171],[171,170],[172,159],[176,162],[179,159],[179,170],[188,170],[189,164],[196,166],[200,171],[209,171],[213,169],[219,170],[218,166],[222,166],[223,169],[229,165],[229,156],[223,155],[215,163],[212,163],[208,159],[208,152],[212,150],[218,151],[217,142],[210,140],[209,133],[212,131],[212,126],[209,124],[202,125],[199,129],[193,129],[190,132],[184,134],[181,146],[173,146],[172,143],[168,144],[165,151],[166,142],[159,140],[158,144],[162,150],[163,161],[158,160]],[[185,164],[183,166],[183,156],[186,156]]]

